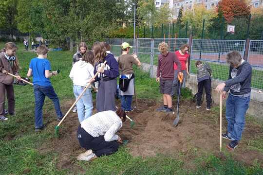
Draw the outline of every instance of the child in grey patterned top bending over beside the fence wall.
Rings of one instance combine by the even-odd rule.
[[[207,99],[207,110],[211,108],[211,74],[212,70],[207,63],[202,63],[202,61],[196,61],[195,66],[197,68],[197,82],[198,82],[198,92],[196,94],[196,108],[201,107],[201,100],[203,95],[203,88],[206,90],[206,99]]]

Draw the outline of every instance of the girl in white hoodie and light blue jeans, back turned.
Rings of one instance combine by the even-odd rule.
[[[72,70],[70,71],[70,78],[74,84],[73,91],[76,99],[94,76],[93,64],[94,53],[89,51],[83,55],[82,60],[79,60],[73,65]],[[96,84],[95,86],[97,87]],[[91,87],[89,87],[78,100],[76,106],[79,123],[92,115],[93,100]]]

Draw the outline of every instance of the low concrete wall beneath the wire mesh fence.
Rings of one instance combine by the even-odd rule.
[[[150,71],[150,64],[142,63],[141,67],[142,70],[144,71],[148,71],[148,72]],[[151,75],[152,78],[156,77],[156,71],[157,71],[157,66],[153,66],[153,71]],[[218,84],[222,82],[223,81],[212,79],[211,95],[212,95],[212,101],[216,105],[219,105],[220,96],[215,92],[215,88],[217,87]],[[188,75],[186,86],[192,90],[193,94],[197,93],[197,84],[198,83],[197,83],[196,75],[194,74]],[[204,94],[205,94],[205,90],[204,90]],[[203,101],[205,101],[204,99],[205,98],[203,98]],[[223,102],[223,105],[225,105],[225,100]],[[263,121],[263,93],[260,93],[258,90],[253,88],[251,91],[250,103],[249,103],[249,108],[247,110],[247,114],[252,115]]]

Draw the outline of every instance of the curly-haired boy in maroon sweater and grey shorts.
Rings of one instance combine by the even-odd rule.
[[[171,99],[172,81],[174,76],[173,64],[176,63],[179,73],[181,72],[181,63],[174,53],[168,51],[167,43],[161,42],[158,46],[158,49],[161,54],[158,56],[156,81],[160,81],[160,91],[163,94],[164,105],[156,110],[163,112],[173,112]]]

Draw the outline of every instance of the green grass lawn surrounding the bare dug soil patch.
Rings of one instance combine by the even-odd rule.
[[[4,43],[0,43],[3,48]],[[23,45],[19,44],[17,52],[20,67],[20,75],[25,77],[31,58],[36,53],[23,51]],[[73,84],[69,78],[73,53],[69,51],[52,51],[48,53],[52,70],[59,69],[60,74],[51,78],[56,94],[63,105],[73,100]],[[154,79],[141,70],[135,70],[136,92],[140,99],[160,101],[159,85]],[[214,74],[214,76],[216,76]],[[251,165],[235,160],[232,154],[225,153],[221,158],[217,154],[207,151],[198,153],[196,149],[185,155],[177,152],[177,156],[156,153],[154,157],[132,157],[127,147],[107,157],[101,157],[93,162],[72,161],[77,170],[58,168],[58,152],[42,152],[40,147],[55,140],[54,128],[48,128],[40,133],[34,132],[34,93],[30,85],[14,85],[16,95],[16,116],[7,116],[8,121],[0,122],[0,175],[262,175],[262,164],[256,160]],[[191,98],[189,90],[183,89],[183,98]],[[217,108],[213,108],[218,112]],[[50,114],[53,117],[45,117],[44,123],[51,123],[56,119],[54,105],[47,99],[43,108],[44,116]],[[249,119],[249,120],[248,120]],[[253,118],[247,122],[259,124]],[[261,125],[263,128],[263,125]],[[158,137],[158,136],[157,136]],[[160,138],[165,139],[165,138]],[[250,149],[263,153],[262,138],[249,140]],[[63,147],[63,145],[60,145]],[[75,156],[73,156],[75,159]],[[188,167],[189,159],[194,167]]]

